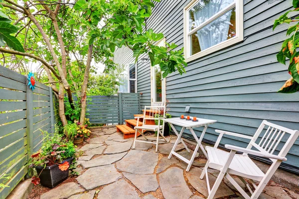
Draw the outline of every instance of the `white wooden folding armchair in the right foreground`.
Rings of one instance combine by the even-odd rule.
[[[215,131],[219,133],[219,137],[214,147],[206,146],[208,161],[200,176],[200,179],[203,179],[203,177],[206,176],[209,193],[208,199],[213,199],[224,177],[230,181],[230,183],[240,192],[240,194],[242,194],[245,199],[258,199],[280,164],[287,160],[286,155],[299,136],[298,130],[291,130],[270,123],[266,120],[262,122],[253,137],[222,130]],[[250,139],[251,141],[249,142],[247,148],[226,144],[225,148],[230,150],[230,152],[226,152],[221,149],[217,149],[223,135],[246,138]],[[252,147],[256,148],[257,150],[252,150]],[[236,154],[237,151],[243,152],[243,154]],[[273,155],[275,151],[279,151],[278,155]],[[248,154],[266,157],[273,162],[266,174],[264,174],[249,158]],[[208,168],[220,171],[212,189],[210,189],[207,175]],[[230,176],[231,174],[237,175],[241,179],[241,181],[248,188],[251,196],[249,196],[240,187],[240,185],[236,183],[236,181]],[[247,183],[247,181],[244,180],[244,178],[248,179],[253,188],[249,183]],[[254,180],[259,181],[259,185],[256,185]]]

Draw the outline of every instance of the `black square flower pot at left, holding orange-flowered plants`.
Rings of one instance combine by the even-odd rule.
[[[62,161],[62,163],[67,161],[69,164],[71,164],[72,159],[73,158],[68,158]],[[66,180],[69,173],[69,170],[61,171],[56,164],[45,168],[36,166],[35,169],[37,172],[37,176],[39,176],[40,184],[48,188],[54,188],[59,183]]]

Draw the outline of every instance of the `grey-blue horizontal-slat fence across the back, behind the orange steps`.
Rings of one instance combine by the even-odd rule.
[[[140,113],[139,93],[119,93],[118,96],[88,96],[87,118],[92,124],[123,124]]]

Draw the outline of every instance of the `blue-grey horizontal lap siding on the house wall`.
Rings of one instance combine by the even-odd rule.
[[[189,1],[155,2],[147,22],[148,28],[162,32],[177,49],[183,47],[183,8]],[[244,41],[189,62],[182,76],[170,74],[166,78],[169,113],[179,116],[190,105],[190,115],[216,119],[204,137],[213,141],[215,129],[253,135],[263,119],[299,129],[299,93],[277,93],[290,78],[287,67],[276,60],[289,25],[272,31],[274,20],[291,7],[292,0],[244,0]],[[114,61],[132,63],[133,53],[117,49]],[[141,105],[150,105],[149,63],[138,62],[137,81]],[[221,143],[246,146],[247,140],[226,137]],[[299,140],[287,157],[287,164],[299,167]]]

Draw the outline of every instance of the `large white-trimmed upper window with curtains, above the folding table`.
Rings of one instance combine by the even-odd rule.
[[[243,40],[243,0],[192,0],[184,8],[187,62]]]

